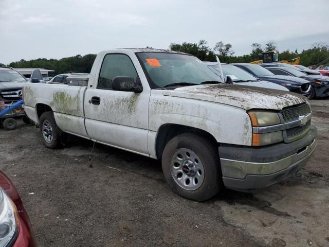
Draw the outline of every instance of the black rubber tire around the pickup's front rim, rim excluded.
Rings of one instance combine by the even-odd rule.
[[[193,151],[204,167],[204,180],[195,190],[182,188],[170,171],[173,155],[179,149]],[[215,196],[223,186],[220,160],[216,146],[210,140],[194,133],[184,133],[172,138],[162,153],[162,171],[169,187],[178,195],[195,201],[205,201]]]

